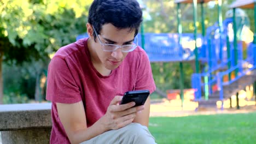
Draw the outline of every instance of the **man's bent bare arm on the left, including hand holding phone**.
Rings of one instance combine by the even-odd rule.
[[[131,123],[137,111],[144,109],[143,106],[132,107],[134,102],[118,105],[120,96],[116,96],[109,104],[106,114],[91,127],[86,126],[86,113],[83,102],[75,104],[57,103],[57,111],[61,123],[71,143],[80,143],[90,140],[111,129],[119,129]]]

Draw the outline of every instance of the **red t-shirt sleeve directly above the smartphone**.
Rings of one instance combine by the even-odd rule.
[[[135,85],[135,90],[148,89],[150,94],[156,89],[155,82],[152,75],[152,69],[147,53],[142,50],[141,58],[138,64],[138,74]]]

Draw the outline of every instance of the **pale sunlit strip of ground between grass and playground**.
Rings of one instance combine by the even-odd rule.
[[[181,106],[181,100],[160,100],[152,101],[150,106],[150,117],[182,117],[182,116],[192,116],[192,115],[214,115],[223,113],[249,113],[256,112],[255,101],[243,101],[240,103],[240,109],[237,110],[236,107],[229,108],[230,106],[224,102],[224,110],[216,108],[200,109],[195,111],[197,103],[193,101],[184,101],[183,107]],[[226,106],[225,106],[226,104]]]

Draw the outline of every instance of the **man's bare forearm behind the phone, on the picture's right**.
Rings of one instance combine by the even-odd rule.
[[[146,100],[144,104],[144,110],[137,112],[135,119],[133,122],[139,123],[141,125],[145,125],[148,127],[149,123],[149,111],[150,111],[150,96],[148,96],[148,99]]]

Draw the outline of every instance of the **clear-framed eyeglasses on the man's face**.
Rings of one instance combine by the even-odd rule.
[[[92,26],[92,25],[91,25]],[[94,32],[95,32],[95,34],[96,34],[96,37],[98,38],[98,40],[100,41],[100,43],[101,43],[101,47],[102,47],[102,50],[103,51],[106,51],[106,52],[113,52],[113,51],[115,51],[115,50],[117,50],[117,49],[119,49],[119,48],[121,48],[121,50],[123,51],[123,47],[124,46],[133,46],[133,48],[131,49],[131,50],[129,50],[129,51],[123,51],[123,52],[131,52],[131,51],[133,51],[133,50],[135,50],[136,49],[136,47],[138,46],[138,36],[136,36],[136,40],[137,40],[137,44],[130,44],[130,45],[115,45],[115,44],[103,44],[102,43],[102,41],[101,41],[101,39],[100,39],[100,37],[98,37],[98,33],[96,32],[96,29],[94,28],[94,26],[92,26],[92,28],[94,29]],[[104,46],[105,45],[112,45],[112,46],[115,46],[115,49],[114,50],[105,50],[104,49]]]

